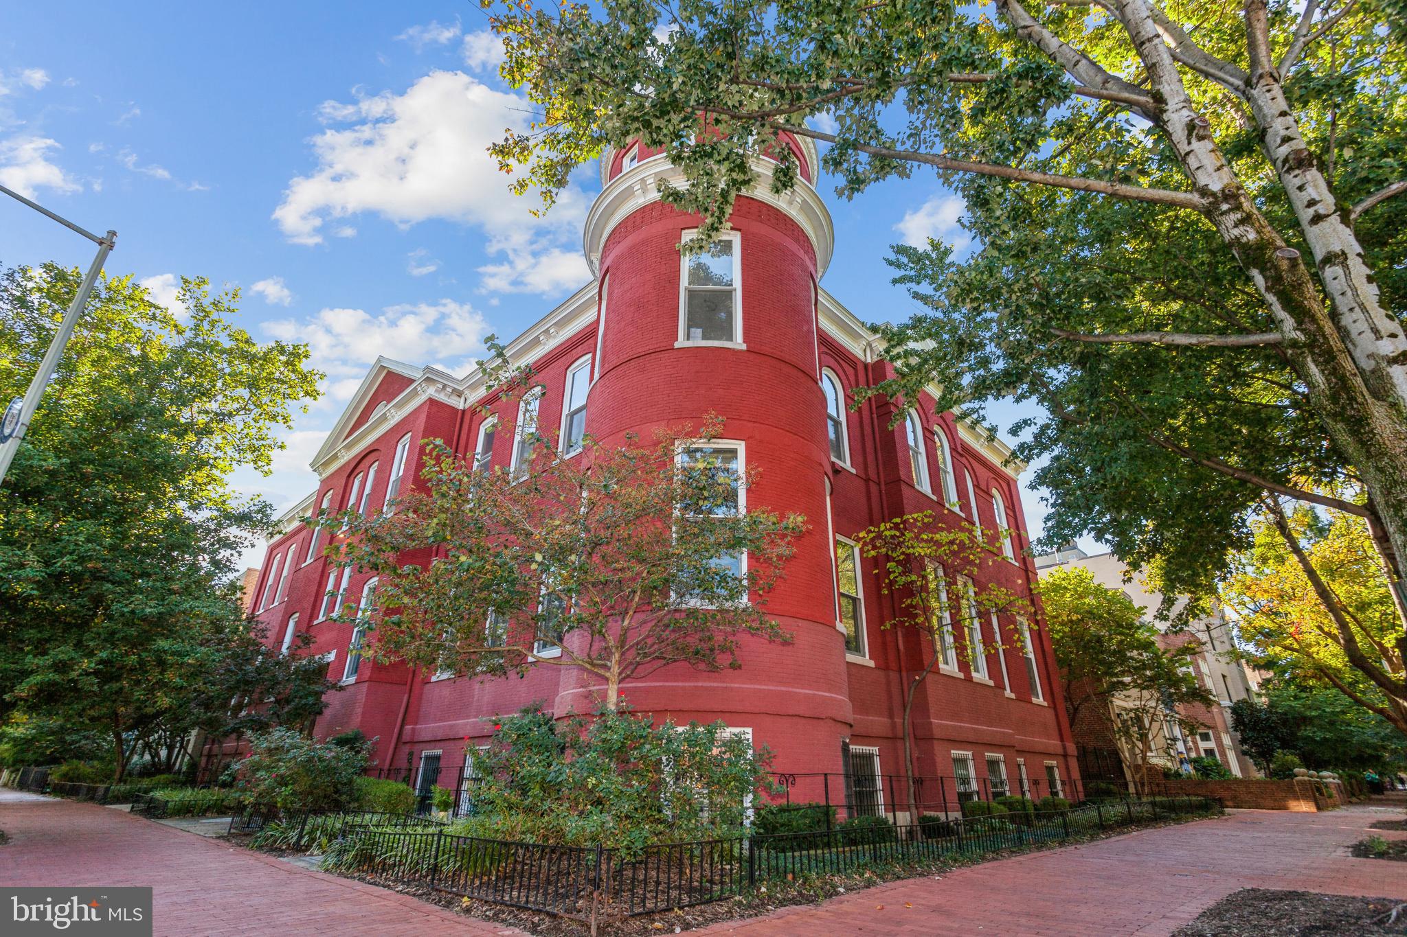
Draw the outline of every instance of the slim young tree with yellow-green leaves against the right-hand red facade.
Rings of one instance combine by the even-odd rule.
[[[940,525],[933,511],[905,514],[865,528],[855,535],[861,552],[878,561],[879,587],[898,596],[899,614],[884,622],[884,628],[912,629],[919,635],[922,666],[903,688],[903,766],[909,787],[909,804],[917,804],[916,771],[913,766],[913,704],[929,674],[944,662],[958,659],[972,664],[972,628],[981,610],[1024,611],[1027,604],[1000,586],[982,586],[962,594],[960,576],[971,580],[976,569],[989,561],[989,544],[971,524]],[[950,596],[957,596],[957,601]],[[961,638],[953,610],[958,608]],[[991,650],[991,648],[985,648]],[[1005,650],[998,636],[998,653]]]

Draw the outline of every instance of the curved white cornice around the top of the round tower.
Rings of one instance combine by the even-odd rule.
[[[816,194],[816,190],[802,181],[781,195],[771,192],[772,167],[771,160],[754,159],[753,169],[757,171],[757,181],[747,190],[747,198],[779,209],[806,233],[812,249],[816,251],[816,275],[820,277],[830,266],[830,256],[836,246],[836,229],[830,221],[830,211]],[[661,156],[651,156],[637,163],[629,170],[611,180],[587,214],[587,223],[581,232],[582,250],[591,273],[601,273],[601,247],[615,226],[625,221],[632,212],[639,211],[650,202],[660,201],[660,183],[668,181],[675,187],[684,187],[687,180],[677,166],[673,166]]]

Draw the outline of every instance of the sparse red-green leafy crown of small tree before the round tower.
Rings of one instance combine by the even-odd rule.
[[[720,428],[588,437],[571,458],[533,431],[525,469],[490,472],[432,440],[428,490],[387,514],[328,521],[349,527],[339,562],[377,577],[367,605],[343,617],[374,631],[367,653],[436,671],[580,667],[612,709],[622,683],[661,667],[739,667],[743,635],[787,638],[765,600],[805,521],[739,510],[756,473],[711,447]]]

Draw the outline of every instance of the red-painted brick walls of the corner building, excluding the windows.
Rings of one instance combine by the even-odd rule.
[[[635,174],[668,169],[661,160],[650,160],[620,173],[619,153],[606,164],[611,178],[598,208],[611,198],[625,198]],[[808,173],[812,166],[808,163]],[[739,670],[666,669],[626,683],[623,695],[637,711],[658,718],[723,719],[747,726],[756,743],[775,752],[775,767],[782,771],[840,773],[843,742],[848,740],[877,747],[881,771],[899,774],[902,690],[927,649],[917,635],[885,628],[896,607],[881,591],[874,563],[864,561],[867,655],[847,656],[844,632],[836,621],[833,534],[853,537],[878,521],[919,510],[934,511],[943,524],[967,523],[975,513],[983,530],[992,531],[995,490],[1006,504],[1016,556],[991,553],[976,580],[1031,597],[1036,568],[1026,552],[1020,489],[1003,468],[1009,450],[960,426],[951,413],[934,416],[933,399],[924,395],[917,409],[930,487],[941,492],[934,435],[941,433],[957,475],[955,509],[915,485],[905,427],[902,421],[889,426],[896,416],[892,402],[871,399],[847,410],[848,459],[832,459],[820,369],[840,379],[847,403],[855,388],[893,371],[877,360],[875,341],[858,320],[819,289],[829,261],[829,232],[817,233],[815,212],[808,216],[764,195],[737,199],[730,226],[739,239],[743,340],[715,347],[678,340],[677,244],[699,219],[644,197],[612,218],[611,225],[595,229],[588,221],[594,284],[509,344],[509,355],[530,361],[546,386],[539,424],[556,433],[567,369],[591,355],[591,435],[609,444],[626,433],[647,435],[658,426],[696,424],[705,414],[718,413],[726,420],[723,435],[741,441],[749,469],[758,471],[749,504],[765,504],[779,514],[798,511],[809,521],[768,600],[768,610],[794,635],[792,642],[744,641]],[[829,218],[825,222],[829,226]],[[592,230],[604,232],[599,243],[590,243]],[[483,416],[481,409],[490,416]],[[283,641],[295,614],[297,631],[311,631],[312,652],[329,653],[331,673],[340,676],[352,628],[318,621],[331,566],[321,549],[310,553],[312,532],[300,518],[315,513],[328,493],[331,507],[343,509],[353,479],[359,473],[366,478],[373,464],[378,468],[370,504],[380,506],[397,443],[407,434],[412,444],[404,486],[419,485],[416,461],[424,440],[450,441],[457,452],[469,455],[487,419],[498,420],[492,464],[507,468],[516,416],[516,403],[497,399],[476,378],[378,361],[314,461],[322,478],[318,490],[288,513],[286,532],[269,545],[266,576],[290,551],[295,558],[287,594],[259,614],[270,641]],[[968,494],[968,478],[976,503]],[[364,573],[352,576],[349,601],[360,596],[367,579]],[[263,580],[257,590],[262,596]],[[274,590],[277,594],[277,586]],[[1014,618],[999,618],[1005,648],[993,650],[992,624],[983,617],[992,680],[974,680],[967,663],[961,663],[958,673],[934,673],[926,681],[915,714],[920,774],[951,777],[951,752],[962,750],[974,754],[979,780],[986,773],[986,754],[1005,756],[1013,785],[1017,760],[1030,766],[1031,778],[1040,784],[1048,763],[1062,781],[1078,777],[1050,642],[1038,615],[1030,624],[1043,698],[1027,679]],[[355,681],[331,695],[317,733],[360,728],[378,739],[376,754],[383,766],[416,763],[425,752],[438,750],[442,764],[457,771],[466,749],[490,736],[485,716],[536,700],[559,714],[582,711],[591,707],[595,691],[587,674],[556,666],[537,664],[522,680],[433,680],[402,664],[363,660]],[[798,794],[816,797],[819,791]]]

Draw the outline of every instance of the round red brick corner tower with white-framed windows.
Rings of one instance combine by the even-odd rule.
[[[722,437],[758,478],[747,507],[805,516],[808,531],[768,596],[789,643],[744,639],[741,669],[666,669],[626,683],[639,711],[751,729],[788,771],[840,770],[850,735],[844,634],[836,627],[829,530],[830,457],[819,384],[816,284],[830,261],[830,215],[812,187],[815,146],[788,140],[801,181],[777,197],[775,163],[740,195],[713,247],[681,257],[701,218],[663,202],[682,180],[663,153],[633,143],[602,159],[604,190],[585,223],[601,291],[587,431],[611,443],[661,426],[723,417]],[[720,441],[720,444],[723,444]],[[564,674],[559,712],[588,708]]]

